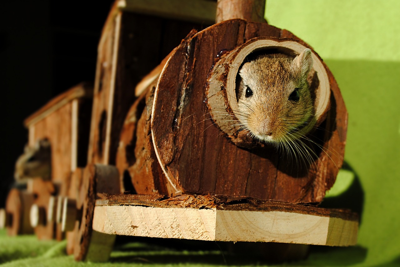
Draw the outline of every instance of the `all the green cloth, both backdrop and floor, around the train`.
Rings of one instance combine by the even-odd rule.
[[[343,177],[353,180],[346,192],[332,194],[322,206],[351,208],[361,214],[357,246],[312,247],[306,261],[286,265],[400,266],[400,1],[268,0],[266,10],[270,24],[290,30],[314,47],[338,81],[349,113]],[[65,242],[11,238],[0,231],[0,263],[264,265],[251,254],[239,257],[221,251],[216,243],[187,249],[146,240],[115,247],[108,263],[76,263],[64,254]]]

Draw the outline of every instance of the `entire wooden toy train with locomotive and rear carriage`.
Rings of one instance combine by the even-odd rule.
[[[265,22],[265,1],[177,2],[182,12],[117,0],[94,89],[81,83],[25,120],[16,177],[26,188],[12,189],[0,212],[8,234],[66,237],[68,253],[92,261],[108,259],[115,235],[354,245],[357,214],[316,206],[346,142],[328,67]],[[235,90],[246,58],[306,48],[315,115],[302,164],[236,126]]]

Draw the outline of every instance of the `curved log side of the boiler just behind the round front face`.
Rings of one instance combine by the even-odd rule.
[[[196,31],[192,30],[185,39],[195,33]],[[130,108],[120,134],[116,160],[120,182],[121,185],[132,184],[134,192],[138,194],[168,194],[176,191],[174,188],[178,187],[177,184],[166,180],[156,160],[150,124],[156,83],[174,51],[175,49],[136,86],[136,94],[140,95]],[[124,182],[127,176],[130,181]]]

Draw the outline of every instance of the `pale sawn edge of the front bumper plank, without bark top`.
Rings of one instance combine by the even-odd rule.
[[[96,206],[103,233],[216,241],[355,245],[358,222],[290,211]]]

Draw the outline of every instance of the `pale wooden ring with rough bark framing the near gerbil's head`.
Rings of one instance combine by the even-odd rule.
[[[211,111],[213,120],[218,124],[220,129],[224,131],[232,141],[238,146],[252,147],[254,140],[246,138],[248,131],[240,131],[241,126],[233,118],[238,117],[238,103],[236,100],[236,76],[239,67],[244,60],[253,52],[268,51],[268,49],[278,50],[280,53],[287,53],[288,55],[298,55],[308,47],[291,40],[258,37],[250,39],[243,45],[240,45],[232,51],[226,52],[224,56],[216,62],[208,78],[208,91],[207,99],[208,106]],[[309,74],[309,80],[313,80],[316,75],[318,82],[312,83],[316,88],[310,88],[315,95],[314,106],[315,115],[314,119],[308,124],[307,127],[298,131],[299,135],[306,135],[315,125],[320,125],[326,118],[326,112],[329,107],[330,98],[330,84],[325,67],[321,59],[314,52],[312,53],[313,68]],[[224,99],[225,101],[221,101]],[[223,113],[221,111],[226,111]],[[238,137],[238,133],[240,136]],[[246,136],[246,138],[243,138]]]

